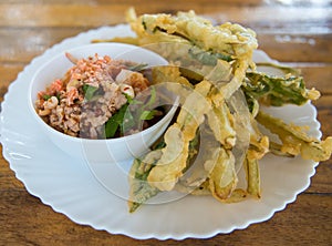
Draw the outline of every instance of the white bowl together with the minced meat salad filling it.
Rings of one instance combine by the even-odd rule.
[[[34,74],[31,113],[64,152],[96,162],[139,156],[163,134],[176,111],[173,96],[153,84],[158,54],[122,43],[68,50]]]

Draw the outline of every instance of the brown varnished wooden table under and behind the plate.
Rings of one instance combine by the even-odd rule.
[[[329,0],[1,0],[0,101],[32,58],[61,40],[138,13],[194,9],[217,23],[232,21],[258,33],[259,48],[300,68],[308,86],[322,98],[314,104],[323,137],[332,135],[332,2]],[[2,146],[1,153],[2,153]],[[30,195],[0,157],[0,245],[331,245],[332,161],[322,162],[310,187],[271,219],[209,239],[136,240],[81,226]]]

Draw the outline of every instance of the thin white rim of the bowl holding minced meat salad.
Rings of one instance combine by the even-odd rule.
[[[151,55],[155,55],[155,57],[159,57],[160,60],[164,60],[165,64],[164,65],[167,65],[169,64],[168,61],[166,59],[164,59],[162,55],[151,51],[151,50],[147,50],[145,48],[142,48],[142,47],[137,47],[137,45],[133,45],[133,44],[126,44],[126,43],[120,43],[120,42],[110,42],[110,43],[90,43],[90,44],[84,44],[84,45],[79,45],[79,47],[75,47],[75,48],[71,48],[71,49],[68,49],[68,50],[63,50],[61,51],[60,53],[55,54],[52,57],[52,59],[50,59],[48,62],[45,62],[44,64],[42,64],[33,74],[32,79],[30,80],[30,84],[29,84],[29,89],[28,89],[28,101],[29,101],[29,109],[30,111],[32,112],[32,115],[34,119],[37,119],[37,121],[39,122],[39,124],[45,129],[48,132],[50,132],[51,134],[55,134],[56,136],[59,137],[62,137],[64,140],[68,140],[68,141],[74,141],[76,143],[82,143],[82,142],[87,142],[87,143],[100,143],[100,142],[123,142],[123,141],[126,141],[126,140],[131,140],[131,139],[135,139],[142,134],[148,134],[149,132],[154,131],[156,127],[158,127],[160,124],[164,124],[167,119],[169,116],[172,116],[175,111],[177,110],[177,106],[178,106],[178,96],[174,100],[174,103],[173,104],[169,104],[170,109],[168,110],[168,112],[155,124],[153,124],[152,126],[143,130],[143,131],[139,131],[137,133],[133,133],[133,134],[129,134],[129,135],[125,135],[125,136],[120,136],[120,137],[114,137],[114,139],[84,139],[84,137],[76,137],[76,136],[71,136],[71,135],[68,135],[63,132],[60,132],[55,129],[53,129],[51,125],[49,125],[48,123],[45,123],[42,117],[40,115],[38,115],[37,111],[35,111],[35,107],[34,107],[34,102],[32,100],[32,88],[34,85],[34,81],[37,79],[37,76],[43,71],[43,69],[45,69],[48,65],[50,65],[52,62],[54,62],[54,60],[61,58],[61,57],[64,57],[65,55],[65,52],[73,52],[73,51],[77,51],[77,50],[84,50],[86,48],[91,48],[91,47],[105,47],[105,49],[107,47],[122,47],[122,48],[128,48],[129,51],[131,50],[134,50],[134,49],[138,49],[138,50],[143,50],[144,52],[146,53],[149,53]],[[124,52],[122,52],[124,53]],[[122,54],[120,53],[120,55]],[[91,55],[94,55],[94,54],[91,54]],[[152,68],[153,65],[151,65],[149,68]],[[70,69],[70,68],[69,68]],[[50,82],[51,83],[51,82]]]

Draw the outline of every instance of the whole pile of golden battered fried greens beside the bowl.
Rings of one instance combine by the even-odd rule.
[[[153,50],[169,61],[153,69],[154,83],[166,83],[180,98],[180,109],[160,139],[129,173],[129,212],[160,192],[212,195],[220,202],[260,197],[259,160],[267,153],[320,162],[329,160],[332,137],[311,137],[305,126],[263,112],[266,106],[302,105],[320,96],[307,89],[298,71],[257,71],[256,33],[239,24],[212,23],[194,11],[143,14],[127,20],[136,37],[113,42]],[[105,40],[95,40],[105,41]],[[263,134],[261,127],[277,134]],[[247,187],[238,187],[243,167]]]

